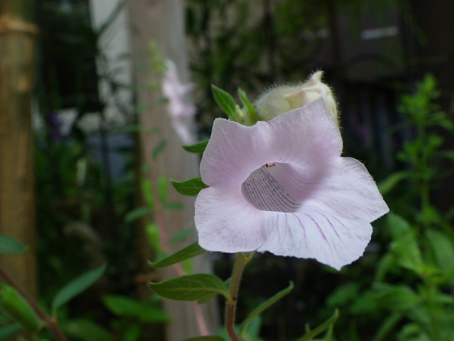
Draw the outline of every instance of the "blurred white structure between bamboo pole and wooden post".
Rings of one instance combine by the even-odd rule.
[[[128,15],[126,6],[121,6],[121,3],[121,0],[89,0],[94,30],[100,31],[109,23],[99,37],[101,57],[96,60],[99,96],[106,103],[104,117],[107,129],[128,123],[133,108]],[[118,6],[121,7],[117,13]],[[111,81],[121,87],[113,89]],[[99,130],[99,119],[99,114],[84,114],[78,126],[86,133],[94,133]]]

